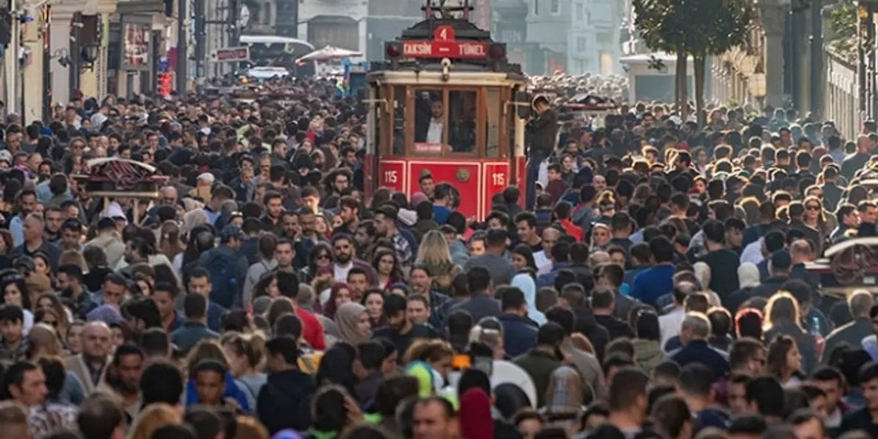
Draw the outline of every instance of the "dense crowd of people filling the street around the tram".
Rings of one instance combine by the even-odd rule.
[[[477,221],[366,194],[357,103],[284,81],[5,117],[0,436],[878,437],[878,305],[806,269],[875,234],[873,122],[537,98]],[[92,197],[103,157],[160,198]]]

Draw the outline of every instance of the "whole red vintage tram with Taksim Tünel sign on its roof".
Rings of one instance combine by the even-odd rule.
[[[526,78],[506,45],[469,21],[471,6],[436,9],[385,43],[366,76],[366,192],[450,184],[457,211],[483,219],[510,184],[525,192]]]

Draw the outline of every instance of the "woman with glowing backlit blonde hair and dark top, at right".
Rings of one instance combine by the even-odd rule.
[[[768,299],[765,310],[766,342],[773,342],[780,335],[788,335],[802,354],[802,372],[806,375],[817,366],[817,343],[814,337],[802,329],[799,304],[788,291],[778,291]]]

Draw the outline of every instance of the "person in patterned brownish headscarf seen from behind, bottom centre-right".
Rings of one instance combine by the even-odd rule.
[[[548,425],[564,428],[571,436],[576,435],[584,397],[579,372],[572,366],[561,366],[552,371],[545,397],[543,415]]]

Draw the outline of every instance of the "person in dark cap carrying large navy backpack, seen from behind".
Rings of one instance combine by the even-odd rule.
[[[198,266],[211,276],[211,302],[227,309],[244,306],[241,298],[249,266],[247,256],[241,254],[243,242],[241,228],[229,224],[219,232],[219,247],[198,258]]]

